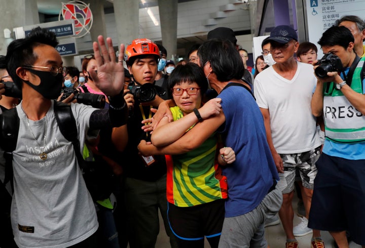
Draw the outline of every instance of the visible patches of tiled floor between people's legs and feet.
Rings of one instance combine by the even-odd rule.
[[[293,201],[293,208],[296,211],[297,201]],[[300,219],[295,216],[294,217],[294,225],[297,225],[300,222]],[[162,221],[161,221],[162,223]],[[276,226],[270,226],[265,228],[265,237],[268,241],[270,248],[283,248],[285,247],[285,232],[282,228],[281,224]],[[324,240],[324,244],[326,248],[333,248],[333,239],[329,232],[321,232],[322,239]],[[312,238],[312,234],[308,234],[302,237],[297,237],[299,242],[299,248],[310,248],[310,240]],[[160,225],[160,234],[157,238],[156,248],[167,248],[170,247],[168,237],[165,233],[165,228]],[[205,247],[210,247],[208,242],[205,242]],[[357,245],[353,242],[350,243],[350,248],[360,248],[360,245]]]

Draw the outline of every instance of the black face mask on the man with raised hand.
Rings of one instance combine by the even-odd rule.
[[[31,82],[25,81],[27,85],[40,93],[44,98],[57,99],[59,97],[63,82],[62,73],[53,76],[49,71],[28,70],[34,75],[37,75],[41,79],[41,83],[35,86]]]

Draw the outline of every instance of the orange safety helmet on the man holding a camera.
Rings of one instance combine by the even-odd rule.
[[[134,56],[149,54],[156,55],[159,59],[161,58],[160,50],[156,43],[152,42],[151,39],[134,39],[125,50],[124,61],[128,62]]]

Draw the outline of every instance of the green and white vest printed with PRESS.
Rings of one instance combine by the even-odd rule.
[[[351,89],[363,94],[360,72],[365,61],[361,58],[352,76]],[[347,100],[334,82],[323,85],[323,116],[325,137],[338,143],[365,141],[365,116]]]

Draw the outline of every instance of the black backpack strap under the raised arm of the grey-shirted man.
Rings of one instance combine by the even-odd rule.
[[[82,169],[84,159],[80,152],[80,141],[78,139],[78,130],[74,114],[72,114],[71,106],[62,102],[54,101],[54,115],[57,120],[58,127],[66,140],[72,143],[79,166]]]

